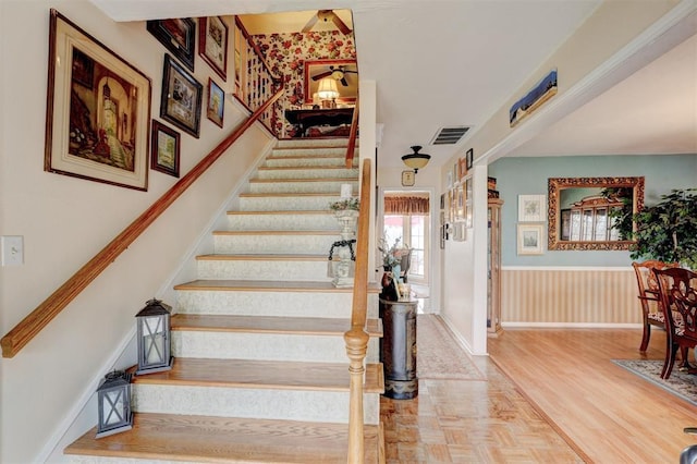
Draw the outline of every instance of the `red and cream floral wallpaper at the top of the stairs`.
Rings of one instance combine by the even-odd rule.
[[[285,96],[281,98],[284,109],[301,109],[305,99],[304,70],[305,61],[316,60],[355,60],[356,47],[353,36],[339,30],[322,30],[292,34],[270,34],[252,36],[264,58],[276,75],[282,75],[285,84]],[[279,110],[279,112],[282,110]],[[282,114],[278,114],[274,130],[283,136],[292,137],[295,131]]]

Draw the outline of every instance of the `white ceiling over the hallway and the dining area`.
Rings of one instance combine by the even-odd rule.
[[[117,21],[305,11],[283,30],[299,30],[319,0],[91,0]],[[641,1],[641,0],[636,0]],[[696,0],[683,0],[683,2]],[[353,11],[362,80],[377,85],[377,122],[383,124],[381,167],[403,167],[412,145],[444,163],[468,148],[429,146],[442,126],[476,132],[505,105],[554,49],[594,12],[600,0],[345,0]],[[684,37],[697,33],[694,8]],[[344,17],[351,25],[351,19]],[[245,22],[248,27],[250,23]],[[295,25],[293,25],[295,24]],[[318,27],[322,27],[319,25]],[[256,27],[256,26],[254,26]],[[253,32],[253,30],[250,30]],[[684,39],[684,37],[681,38]],[[670,45],[673,47],[675,40]],[[637,53],[641,68],[657,56]],[[640,62],[641,59],[645,62]],[[639,65],[637,65],[639,62]],[[557,97],[554,97],[557,98]],[[585,101],[584,101],[585,102]],[[580,103],[578,103],[580,106]],[[499,156],[697,152],[697,38],[543,131],[527,132]]]

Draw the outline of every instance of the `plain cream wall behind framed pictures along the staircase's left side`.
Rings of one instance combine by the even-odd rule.
[[[144,23],[114,23],[88,1],[0,1],[0,234],[22,235],[25,246],[23,266],[0,269],[2,334],[176,182],[150,170],[148,192],[138,192],[44,171],[50,8],[150,77],[151,117],[159,119],[166,50]],[[211,70],[198,56],[195,70],[196,78],[207,86]],[[224,85],[228,91],[231,81],[229,77]],[[241,118],[228,100],[224,130],[204,113],[199,139],[182,132],[182,174]],[[47,329],[14,358],[0,361],[0,462],[46,457],[50,443],[70,425],[65,422],[112,367],[114,351],[126,345],[135,314],[169,286],[183,255],[262,155],[268,141],[265,131],[249,131]],[[91,425],[95,422],[96,417]]]

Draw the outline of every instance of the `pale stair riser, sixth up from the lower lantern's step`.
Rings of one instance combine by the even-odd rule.
[[[323,209],[329,209],[325,205]],[[229,230],[232,231],[337,231],[340,225],[331,213],[318,215],[228,215]]]

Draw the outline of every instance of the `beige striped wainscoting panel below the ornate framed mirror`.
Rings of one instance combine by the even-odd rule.
[[[503,267],[505,326],[636,326],[636,278],[627,268]]]

